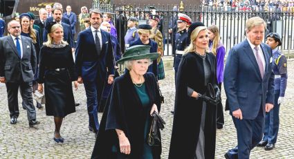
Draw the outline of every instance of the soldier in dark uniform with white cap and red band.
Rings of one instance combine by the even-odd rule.
[[[191,23],[190,17],[183,13],[178,13],[178,32],[176,33],[176,55],[174,55],[174,79],[176,79],[176,73],[178,72],[178,65],[181,62],[182,55],[185,47],[187,46],[187,24]]]

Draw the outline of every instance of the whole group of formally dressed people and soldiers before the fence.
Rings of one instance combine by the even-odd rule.
[[[0,38],[0,82],[7,88],[10,124],[18,122],[18,91],[29,127],[40,124],[33,104],[38,91],[45,95],[46,115],[53,116],[53,140],[64,142],[63,119],[77,106],[73,86],[82,84],[96,138],[91,158],[160,158],[161,144],[147,142],[153,115],[160,114],[158,80],[165,78],[160,16],[151,12],[148,24],[140,25],[129,17],[127,32],[116,30],[113,15],[98,9],[82,7],[78,19],[76,44],[71,6],[63,12],[54,3],[39,10],[39,19],[27,12],[8,23],[9,35]],[[222,84],[238,136],[225,158],[249,158],[256,146],[274,149],[287,82],[286,57],[277,49],[281,37],[270,32],[262,43],[266,21],[251,17],[247,39],[229,49],[225,68],[217,26],[175,13],[169,28],[176,85],[169,158],[214,158],[216,131],[224,124]],[[125,35],[123,44],[119,34]],[[125,66],[122,75],[118,64]],[[160,129],[155,131],[160,141]]]

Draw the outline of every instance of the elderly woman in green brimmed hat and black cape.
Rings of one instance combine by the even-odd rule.
[[[160,111],[156,77],[147,73],[156,58],[150,46],[138,45],[118,60],[129,71],[114,80],[91,158],[160,158],[161,146],[146,142],[151,114]]]

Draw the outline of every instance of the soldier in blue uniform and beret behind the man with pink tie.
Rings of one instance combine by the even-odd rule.
[[[265,150],[275,148],[277,142],[277,133],[279,131],[279,106],[284,101],[284,95],[287,85],[287,59],[277,50],[282,45],[282,40],[277,33],[269,33],[266,36],[266,44],[273,50],[272,67],[275,74],[275,106],[266,113],[264,138],[257,144],[257,147],[264,147]]]

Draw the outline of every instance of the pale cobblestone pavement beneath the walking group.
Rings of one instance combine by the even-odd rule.
[[[172,133],[174,109],[174,71],[166,71],[166,78],[160,81],[160,89],[165,96],[160,115],[167,123],[161,132],[163,142],[162,158],[167,158],[169,142]],[[291,93],[292,92],[292,93]],[[256,147],[252,150],[250,158],[294,158],[294,62],[288,62],[288,85],[286,97],[280,108],[280,127],[276,148],[265,151]],[[57,144],[53,141],[53,117],[46,116],[45,109],[37,110],[37,120],[41,122],[37,127],[29,128],[26,111],[21,108],[19,95],[20,115],[18,123],[10,124],[6,86],[0,84],[0,158],[90,158],[95,143],[95,135],[88,129],[88,114],[86,111],[86,95],[84,86],[80,85],[74,91],[75,100],[81,105],[76,107],[76,112],[64,118],[61,135],[64,143]],[[222,91],[222,102],[226,95]],[[102,114],[98,114],[101,118]],[[224,158],[223,154],[228,149],[235,147],[237,133],[228,111],[224,112],[225,124],[223,129],[217,130],[216,158]],[[188,129],[188,127],[187,127]]]

